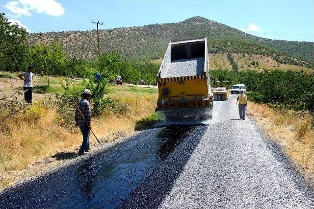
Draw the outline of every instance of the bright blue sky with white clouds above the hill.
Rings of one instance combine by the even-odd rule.
[[[176,23],[193,16],[271,39],[314,42],[314,0],[0,0],[30,32]]]

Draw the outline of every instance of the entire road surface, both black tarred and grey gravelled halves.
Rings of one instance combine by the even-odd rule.
[[[203,126],[142,131],[0,194],[0,208],[314,208],[314,190],[235,95]]]

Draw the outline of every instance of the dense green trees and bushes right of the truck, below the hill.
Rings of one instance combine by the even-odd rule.
[[[295,111],[314,112],[313,74],[276,69],[262,72],[211,70],[210,74],[211,79],[218,81],[244,83],[249,91],[248,96],[255,102],[278,104]]]

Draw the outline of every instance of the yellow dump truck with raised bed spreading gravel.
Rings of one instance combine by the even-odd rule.
[[[208,118],[213,107],[207,39],[171,41],[157,73],[157,111],[190,119]]]

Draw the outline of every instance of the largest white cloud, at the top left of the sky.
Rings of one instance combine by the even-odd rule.
[[[19,16],[30,16],[30,11],[45,13],[51,16],[61,16],[64,14],[63,6],[55,0],[18,0],[10,1],[4,6]]]

